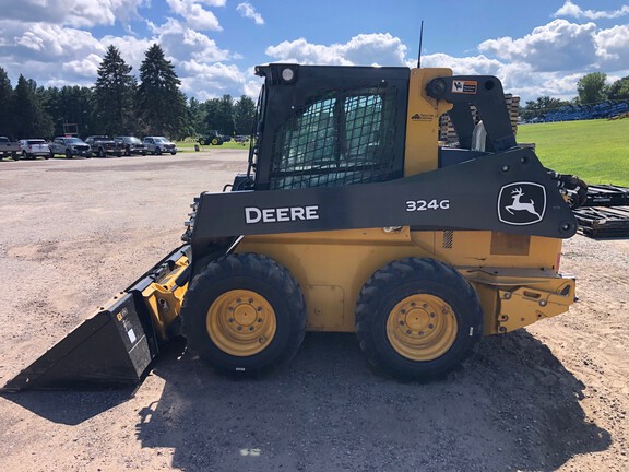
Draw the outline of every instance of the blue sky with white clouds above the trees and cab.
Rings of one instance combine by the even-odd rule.
[[[94,84],[110,44],[137,72],[154,43],[188,96],[256,96],[275,61],[494,74],[523,101],[629,75],[629,2],[612,0],[0,0],[0,67],[15,85]]]

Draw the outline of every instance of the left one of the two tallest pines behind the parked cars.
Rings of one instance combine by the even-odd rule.
[[[124,62],[114,45],[107,48],[98,67],[98,78],[94,85],[94,98],[103,131],[107,134],[121,134],[132,131],[135,78],[131,66]]]

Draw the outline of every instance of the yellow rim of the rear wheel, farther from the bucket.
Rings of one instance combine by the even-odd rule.
[[[458,323],[452,307],[428,294],[411,295],[389,314],[387,337],[411,361],[432,361],[454,343]]]

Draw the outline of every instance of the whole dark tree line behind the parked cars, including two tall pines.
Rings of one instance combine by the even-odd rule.
[[[0,67],[0,135],[52,138],[66,133],[167,135],[180,140],[218,130],[250,134],[256,104],[242,95],[199,102],[180,91],[175,68],[157,44],[132,74],[120,51],[109,46],[93,86],[41,87],[20,75],[13,88]]]

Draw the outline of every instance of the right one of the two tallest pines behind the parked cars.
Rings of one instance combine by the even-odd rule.
[[[164,57],[159,45],[151,46],[140,66],[138,109],[146,134],[178,137],[188,126],[186,96],[173,63]]]

